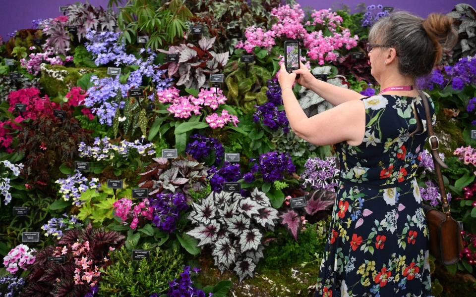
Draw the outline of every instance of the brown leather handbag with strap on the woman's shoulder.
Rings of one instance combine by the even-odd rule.
[[[418,91],[425,108],[426,127],[428,131],[428,142],[431,148],[431,155],[435,164],[435,173],[438,179],[438,187],[441,193],[442,211],[422,204],[426,216],[426,224],[429,231],[430,254],[440,260],[445,265],[452,265],[460,259],[460,252],[463,249],[463,237],[457,221],[451,217],[450,204],[446,197],[446,190],[441,174],[441,167],[448,168],[438,155],[439,140],[435,136],[431,125],[431,113],[426,95]]]

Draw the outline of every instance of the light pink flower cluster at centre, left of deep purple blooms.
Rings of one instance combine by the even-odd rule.
[[[173,113],[178,118],[189,118],[194,114],[200,114],[200,109],[204,106],[209,106],[211,109],[216,110],[220,104],[225,104],[227,98],[223,95],[223,91],[216,88],[200,89],[198,97],[192,95],[179,96],[179,90],[175,87],[158,92],[157,97],[161,103],[171,103],[167,110]],[[227,110],[223,110],[221,115],[214,112],[205,118],[205,121],[210,125],[212,129],[222,128],[225,124],[232,122],[237,126],[238,117],[231,115]]]

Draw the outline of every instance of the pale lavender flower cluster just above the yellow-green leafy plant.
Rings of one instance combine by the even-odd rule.
[[[74,205],[81,205],[81,193],[86,192],[88,189],[97,189],[99,179],[93,177],[91,181],[88,181],[80,171],[76,171],[74,175],[60,178],[55,183],[60,185],[58,192],[65,201],[69,201],[71,198]]]

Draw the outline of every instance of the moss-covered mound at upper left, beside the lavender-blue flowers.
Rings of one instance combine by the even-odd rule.
[[[107,68],[64,67],[62,65],[42,65],[40,85],[48,96],[54,98],[64,96],[76,86],[78,79],[86,73],[94,73],[98,77],[107,75]]]

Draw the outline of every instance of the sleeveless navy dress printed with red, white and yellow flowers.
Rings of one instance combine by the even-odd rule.
[[[431,296],[429,236],[415,179],[427,141],[422,99],[361,100],[363,142],[335,145],[340,182],[314,297]],[[412,133],[416,112],[423,130]]]

